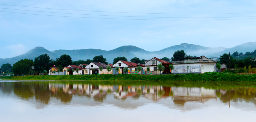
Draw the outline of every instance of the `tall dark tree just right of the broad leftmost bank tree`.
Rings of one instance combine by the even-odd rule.
[[[51,61],[48,54],[42,54],[35,58],[35,70],[48,70],[51,67]]]

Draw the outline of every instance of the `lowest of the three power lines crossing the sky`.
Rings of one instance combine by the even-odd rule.
[[[9,11],[0,11],[7,13],[18,13],[18,14],[29,14],[29,15],[42,15],[42,16],[55,16],[55,17],[71,17],[71,18],[93,18],[93,17],[74,17],[74,16],[59,16],[59,15],[44,15],[44,14],[30,14],[30,13],[19,13],[19,12],[9,12]],[[207,21],[207,20],[239,20],[239,19],[256,19],[256,18],[238,18],[238,19],[190,19],[190,20],[181,20],[181,19],[128,19],[128,18],[96,18],[96,19],[125,19],[125,20],[162,20],[162,21]]]

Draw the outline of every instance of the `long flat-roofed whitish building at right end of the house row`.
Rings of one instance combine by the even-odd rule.
[[[174,66],[173,74],[185,74],[214,72],[216,62],[201,56],[184,58],[184,61],[172,61],[172,64]]]

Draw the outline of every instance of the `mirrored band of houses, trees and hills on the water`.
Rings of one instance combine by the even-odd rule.
[[[119,108],[135,109],[149,103],[193,110],[208,101],[236,104],[235,107],[253,104],[246,109],[256,110],[256,89],[207,89],[204,87],[176,87],[154,85],[94,85],[58,82],[1,82],[0,98],[17,97],[36,108],[55,105],[99,106],[111,104]]]

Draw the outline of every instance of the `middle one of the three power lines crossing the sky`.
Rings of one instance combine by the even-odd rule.
[[[10,9],[10,8],[0,8],[0,9],[19,10],[19,11],[32,11],[32,10]],[[146,16],[121,16],[121,15],[77,14],[77,13],[62,13],[62,12],[49,12],[49,11],[34,11],[34,12],[60,13],[60,14],[76,14],[76,15],[93,15],[93,16],[114,16],[114,17],[142,17],[142,18],[243,18],[243,17],[256,17],[256,16],[242,16],[242,17],[146,17]]]

